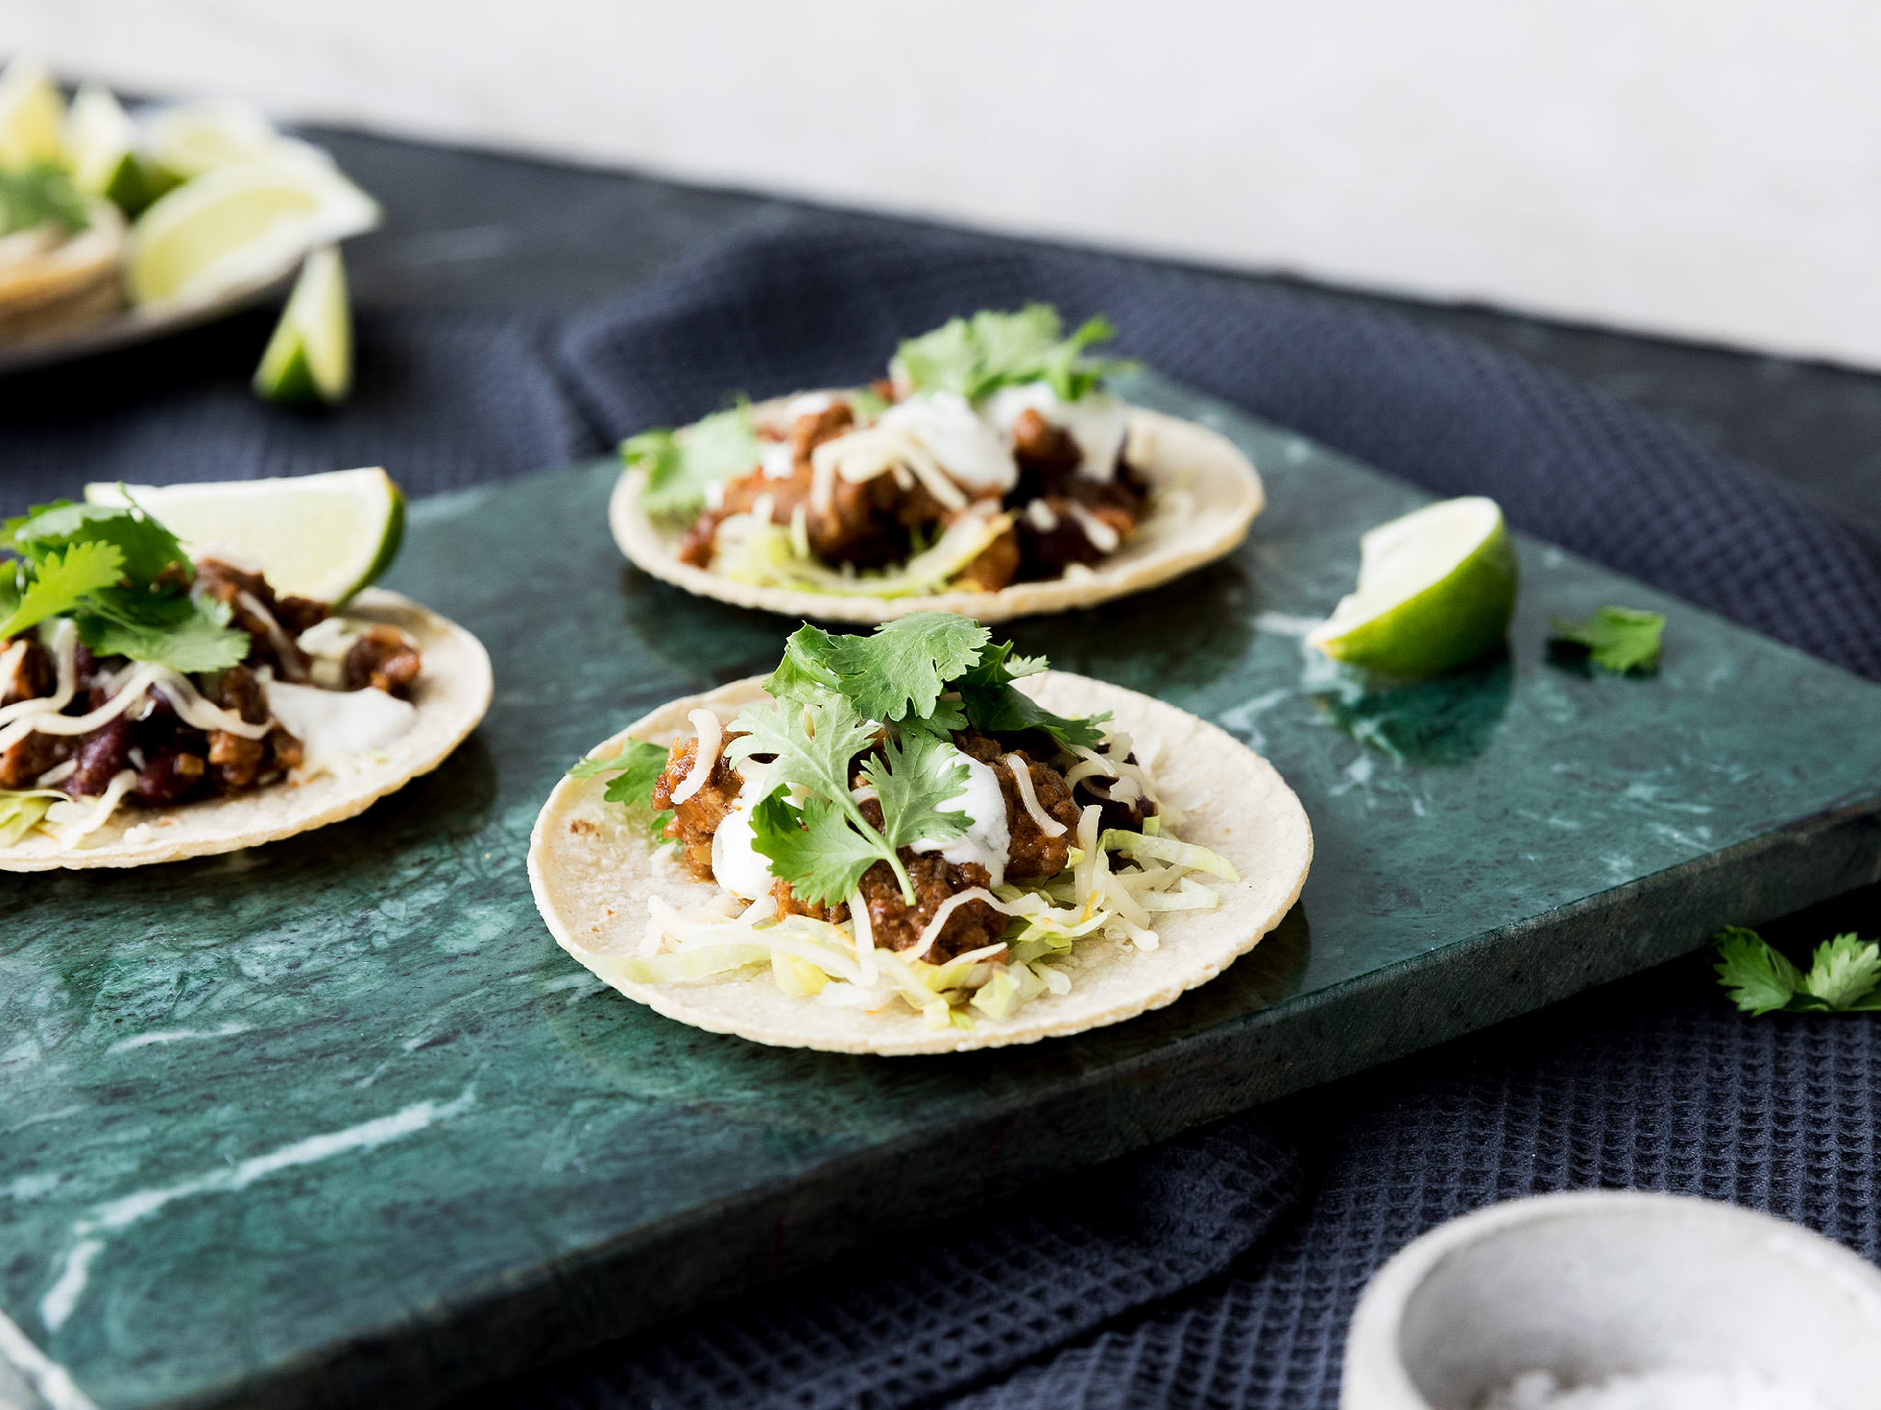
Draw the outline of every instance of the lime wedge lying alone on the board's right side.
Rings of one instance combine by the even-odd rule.
[[[1392,675],[1439,675],[1509,634],[1516,549],[1495,500],[1428,504],[1358,540],[1358,587],[1307,645]]]

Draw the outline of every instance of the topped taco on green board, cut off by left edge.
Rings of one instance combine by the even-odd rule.
[[[361,476],[384,479],[324,479]],[[271,483],[305,481],[235,491]],[[0,870],[139,867],[339,822],[489,709],[489,656],[461,626],[376,588],[278,592],[120,500],[40,506],[0,538]],[[367,545],[378,568],[393,543]]]

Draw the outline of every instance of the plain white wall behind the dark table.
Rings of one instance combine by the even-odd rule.
[[[1881,367],[1873,0],[0,0],[150,92]]]

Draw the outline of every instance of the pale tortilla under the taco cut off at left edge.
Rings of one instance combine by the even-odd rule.
[[[367,588],[346,603],[342,615],[404,628],[418,637],[425,656],[412,694],[418,718],[410,733],[391,744],[386,760],[361,763],[344,775],[325,773],[305,784],[269,784],[177,808],[119,808],[79,848],[32,833],[17,846],[0,848],[0,870],[149,867],[239,852],[352,818],[436,769],[489,711],[491,673],[483,643],[397,592]],[[135,831],[139,827],[145,831]]]

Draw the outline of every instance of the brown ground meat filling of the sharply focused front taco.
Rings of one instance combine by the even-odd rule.
[[[726,735],[726,743],[730,744],[735,737]],[[1012,835],[1006,855],[1006,878],[1014,882],[1038,880],[1057,876],[1065,870],[1070,861],[1072,831],[1078,825],[1078,807],[1072,801],[1072,790],[1065,782],[1065,775],[1050,763],[1040,763],[1021,748],[999,743],[991,735],[961,731],[954,735],[954,743],[969,758],[989,763],[999,776],[999,788],[1006,801],[1006,827]],[[1031,810],[1020,799],[1006,756],[1020,758],[1031,775],[1038,805],[1048,816],[1065,825],[1063,835],[1048,837],[1033,818]],[[687,870],[702,882],[711,882],[715,880],[711,870],[711,840],[719,831],[719,823],[724,822],[726,814],[737,803],[743,780],[735,769],[726,765],[724,752],[720,750],[705,784],[690,799],[675,807],[673,791],[692,773],[696,758],[696,739],[681,739],[672,744],[666,754],[666,769],[653,786],[653,807],[656,810],[673,810],[673,820],[666,825],[666,835],[679,842]],[[861,805],[861,814],[871,827],[882,825],[882,807],[873,799]],[[939,854],[914,852],[912,848],[901,848],[897,855],[909,872],[909,880],[914,884],[912,904],[901,895],[901,882],[895,880],[895,872],[886,861],[869,867],[861,874],[860,884],[863,902],[869,908],[869,929],[880,949],[914,949],[942,902],[961,891],[972,887],[991,889],[993,885],[993,878],[986,867],[976,861],[954,863]],[[784,880],[775,884],[771,895],[782,916],[811,916],[831,923],[848,919],[848,906],[801,902]],[[940,927],[940,934],[924,959],[940,964],[969,949],[999,944],[1004,929],[1006,917],[1001,912],[984,901],[969,901],[948,914],[946,925]]]

